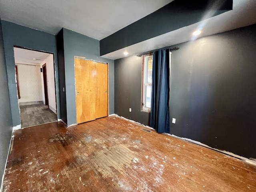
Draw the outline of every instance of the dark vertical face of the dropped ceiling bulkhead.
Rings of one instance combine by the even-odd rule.
[[[232,5],[233,0],[174,0],[152,14],[100,40],[100,55],[222,14],[232,10]],[[212,12],[209,14],[210,10]]]

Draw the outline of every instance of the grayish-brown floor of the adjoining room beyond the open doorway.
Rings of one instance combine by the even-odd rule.
[[[20,106],[21,127],[40,125],[54,122],[57,115],[44,104],[22,105]]]

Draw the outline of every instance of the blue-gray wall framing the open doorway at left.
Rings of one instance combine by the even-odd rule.
[[[58,56],[56,46],[56,36],[42,31],[34,30],[2,20],[2,32],[4,37],[4,52],[6,69],[8,75],[8,87],[10,104],[12,110],[13,126],[20,125],[20,111],[18,105],[18,95],[15,80],[15,63],[13,46],[21,46],[33,50],[40,50],[54,54],[54,68],[56,71],[56,101],[57,113],[60,118],[60,92],[58,77]]]

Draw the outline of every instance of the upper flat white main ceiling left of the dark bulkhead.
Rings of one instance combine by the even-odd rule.
[[[0,0],[0,18],[57,34],[62,27],[101,40],[173,0]]]

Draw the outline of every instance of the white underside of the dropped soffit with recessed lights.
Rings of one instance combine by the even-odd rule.
[[[202,30],[202,33],[198,37],[204,37],[255,23],[256,0],[233,0],[233,10],[231,11],[134,44],[132,46],[128,46],[109,54],[105,54],[102,57],[118,59],[125,57],[123,54],[124,52],[128,52],[128,55],[126,56],[130,56],[193,40],[192,33],[197,29]]]

